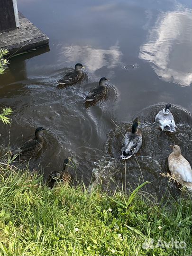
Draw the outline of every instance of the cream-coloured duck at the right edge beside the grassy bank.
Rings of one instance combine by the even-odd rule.
[[[169,155],[169,170],[183,186],[192,190],[192,167],[181,154],[180,146],[170,145],[174,152]]]

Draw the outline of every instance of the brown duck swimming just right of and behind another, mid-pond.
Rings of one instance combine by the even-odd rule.
[[[102,77],[99,82],[99,86],[97,88],[94,88],[89,92],[86,98],[84,98],[85,101],[100,101],[103,99],[103,97],[106,94],[107,88],[104,85],[104,82],[109,81],[106,77]]]

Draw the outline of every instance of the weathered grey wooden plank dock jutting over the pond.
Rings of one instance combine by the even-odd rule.
[[[9,50],[9,55],[18,54],[49,43],[49,38],[21,13],[18,13],[20,27],[0,32],[0,48]]]

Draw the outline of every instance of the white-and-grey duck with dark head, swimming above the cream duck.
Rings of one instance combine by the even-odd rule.
[[[160,110],[155,116],[155,123],[162,131],[175,131],[174,117],[170,112],[171,104],[167,103],[163,110]]]

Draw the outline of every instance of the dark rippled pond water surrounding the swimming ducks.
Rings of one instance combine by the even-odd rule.
[[[128,187],[142,181],[140,169],[131,158],[124,173],[118,153],[122,137],[114,122],[125,132],[140,112],[142,121],[144,115],[148,119],[138,162],[143,179],[153,181],[151,192],[158,187],[161,194],[168,182],[159,172],[167,172],[169,143],[181,138],[183,155],[192,164],[191,117],[182,110],[192,113],[191,1],[18,0],[18,9],[50,38],[50,51],[46,47],[10,58],[7,73],[0,77],[0,106],[10,106],[14,114],[11,127],[0,126],[1,144],[15,148],[42,126],[47,129],[45,145],[30,161],[32,170],[47,177],[72,155],[77,179],[88,186],[92,170],[98,177],[100,167],[114,161],[105,168],[102,182],[114,173]],[[85,66],[86,79],[59,90],[56,81],[76,63]],[[110,80],[108,99],[85,108],[83,98],[103,76]],[[179,122],[174,135],[159,134],[149,122],[157,107],[142,112],[159,102],[182,107],[180,114],[173,108]]]

